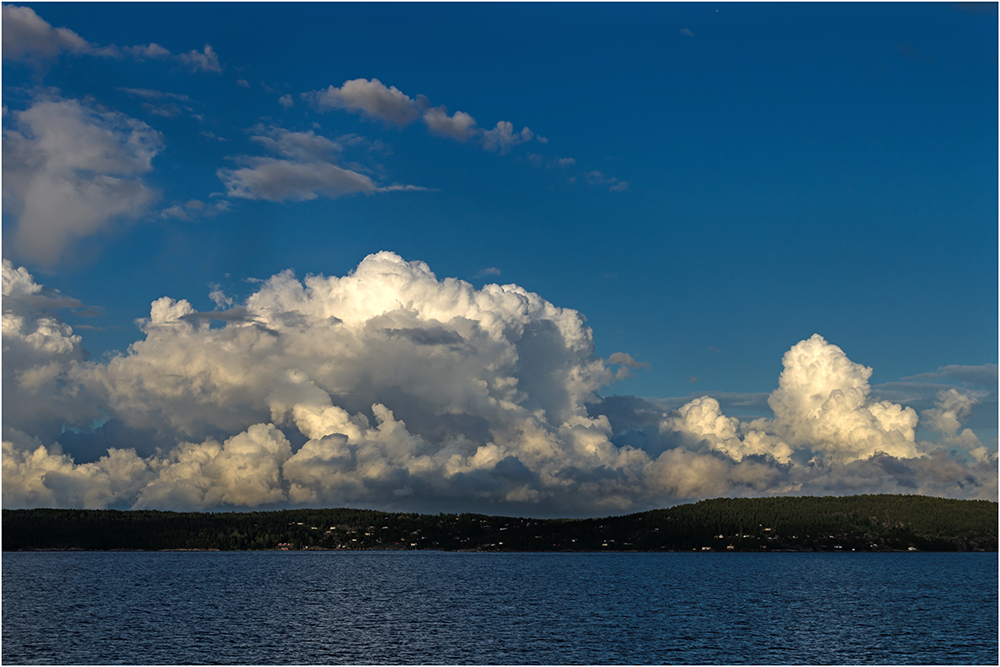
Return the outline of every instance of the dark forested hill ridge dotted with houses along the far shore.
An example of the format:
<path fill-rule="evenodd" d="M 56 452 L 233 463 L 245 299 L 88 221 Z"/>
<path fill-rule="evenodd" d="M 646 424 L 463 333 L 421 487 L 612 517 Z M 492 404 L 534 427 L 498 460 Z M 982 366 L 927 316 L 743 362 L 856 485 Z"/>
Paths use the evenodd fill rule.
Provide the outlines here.
<path fill-rule="evenodd" d="M 721 498 L 602 519 L 3 510 L 3 550 L 996 551 L 997 503 L 926 496 Z"/>

